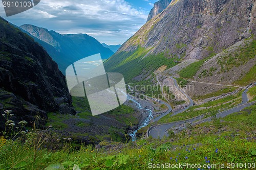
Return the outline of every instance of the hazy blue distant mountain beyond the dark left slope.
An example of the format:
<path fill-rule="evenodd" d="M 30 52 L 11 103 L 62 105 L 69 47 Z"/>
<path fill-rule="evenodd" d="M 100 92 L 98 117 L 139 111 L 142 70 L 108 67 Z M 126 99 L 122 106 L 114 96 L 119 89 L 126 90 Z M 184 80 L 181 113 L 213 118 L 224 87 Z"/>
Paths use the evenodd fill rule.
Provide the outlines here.
<path fill-rule="evenodd" d="M 114 54 L 109 48 L 103 47 L 99 41 L 87 34 L 61 35 L 33 25 L 23 25 L 20 28 L 27 31 L 47 50 L 63 74 L 70 64 L 84 57 L 100 53 L 102 59 L 108 59 Z"/>

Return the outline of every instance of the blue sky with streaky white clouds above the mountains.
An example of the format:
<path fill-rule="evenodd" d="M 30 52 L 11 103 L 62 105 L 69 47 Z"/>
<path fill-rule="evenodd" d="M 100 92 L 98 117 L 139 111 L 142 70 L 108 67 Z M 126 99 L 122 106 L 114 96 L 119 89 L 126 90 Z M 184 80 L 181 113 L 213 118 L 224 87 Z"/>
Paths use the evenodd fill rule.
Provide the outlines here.
<path fill-rule="evenodd" d="M 25 12 L 6 17 L 21 26 L 32 24 L 60 34 L 86 33 L 101 43 L 122 44 L 146 22 L 158 0 L 41 0 Z"/>

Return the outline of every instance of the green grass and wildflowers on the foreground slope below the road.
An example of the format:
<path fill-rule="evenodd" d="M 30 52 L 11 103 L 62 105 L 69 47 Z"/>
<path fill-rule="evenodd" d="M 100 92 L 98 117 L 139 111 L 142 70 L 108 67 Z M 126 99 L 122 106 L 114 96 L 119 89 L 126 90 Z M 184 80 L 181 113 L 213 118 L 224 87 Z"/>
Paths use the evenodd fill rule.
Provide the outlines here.
<path fill-rule="evenodd" d="M 217 119 L 190 127 L 175 134 L 172 139 L 148 138 L 127 144 L 113 143 L 115 146 L 121 145 L 121 149 L 95 149 L 92 145 L 81 145 L 77 149 L 72 144 L 65 143 L 60 150 L 53 151 L 42 145 L 36 150 L 34 157 L 33 145 L 29 139 L 21 142 L 2 137 L 0 169 L 44 169 L 49 165 L 59 167 L 56 169 L 72 169 L 74 164 L 76 168 L 79 166 L 77 169 L 147 169 L 150 163 L 165 162 L 218 166 L 224 163 L 225 167 L 228 162 L 253 165 L 256 158 L 256 143 L 253 138 L 255 127 L 256 105 L 253 105 L 223 118 L 222 121 Z M 103 145 L 107 148 L 107 143 Z"/>

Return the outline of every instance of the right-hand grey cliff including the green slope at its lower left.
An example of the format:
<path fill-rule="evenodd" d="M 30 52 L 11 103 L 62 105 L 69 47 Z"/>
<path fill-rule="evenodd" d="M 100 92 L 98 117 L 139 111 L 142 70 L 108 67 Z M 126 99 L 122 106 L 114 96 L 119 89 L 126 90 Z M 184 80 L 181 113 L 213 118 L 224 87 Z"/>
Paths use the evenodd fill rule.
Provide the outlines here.
<path fill-rule="evenodd" d="M 255 0 L 176 0 L 104 65 L 127 81 L 141 81 L 162 65 L 212 56 L 255 33 Z"/>

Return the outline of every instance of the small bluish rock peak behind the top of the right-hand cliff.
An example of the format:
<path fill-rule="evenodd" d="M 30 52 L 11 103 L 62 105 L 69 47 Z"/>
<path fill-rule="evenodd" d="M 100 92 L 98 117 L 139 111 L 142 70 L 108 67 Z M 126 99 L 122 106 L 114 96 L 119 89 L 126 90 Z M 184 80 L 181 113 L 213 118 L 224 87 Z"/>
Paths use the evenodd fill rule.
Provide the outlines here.
<path fill-rule="evenodd" d="M 160 0 L 156 2 L 154 4 L 154 7 L 150 11 L 150 14 L 148 14 L 147 21 L 151 20 L 152 18 L 163 12 L 163 10 L 168 7 L 170 2 L 172 2 L 172 0 Z"/>

